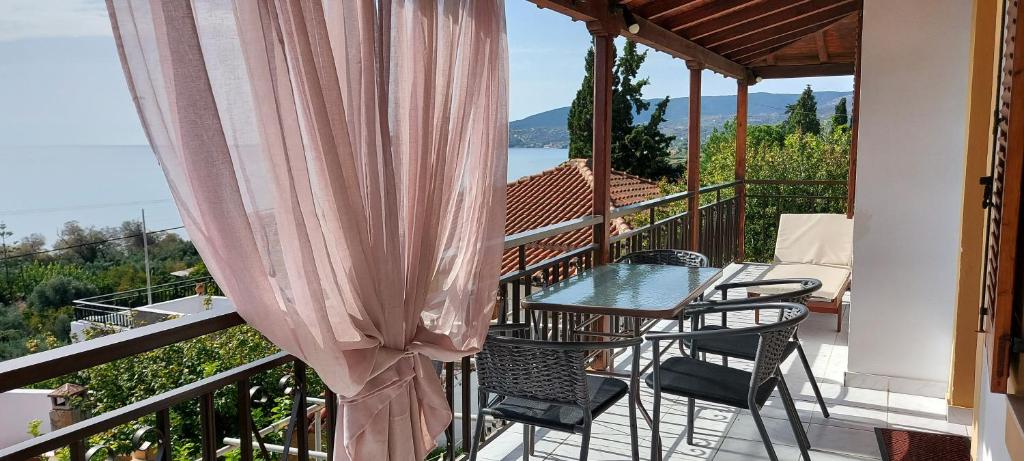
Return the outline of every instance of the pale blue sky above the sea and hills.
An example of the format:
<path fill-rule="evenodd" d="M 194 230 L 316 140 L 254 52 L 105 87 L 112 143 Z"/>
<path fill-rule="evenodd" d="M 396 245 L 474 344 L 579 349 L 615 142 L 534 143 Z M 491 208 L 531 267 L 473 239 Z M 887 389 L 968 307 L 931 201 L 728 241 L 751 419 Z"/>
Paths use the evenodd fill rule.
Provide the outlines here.
<path fill-rule="evenodd" d="M 506 2 L 509 118 L 568 106 L 584 75 L 590 37 L 583 23 Z M 684 62 L 651 51 L 641 68 L 645 97 L 685 96 Z M 102 0 L 0 1 L 0 145 L 144 144 Z M 770 80 L 761 92 L 850 90 L 849 77 Z M 702 94 L 735 94 L 731 79 L 706 71 Z"/>

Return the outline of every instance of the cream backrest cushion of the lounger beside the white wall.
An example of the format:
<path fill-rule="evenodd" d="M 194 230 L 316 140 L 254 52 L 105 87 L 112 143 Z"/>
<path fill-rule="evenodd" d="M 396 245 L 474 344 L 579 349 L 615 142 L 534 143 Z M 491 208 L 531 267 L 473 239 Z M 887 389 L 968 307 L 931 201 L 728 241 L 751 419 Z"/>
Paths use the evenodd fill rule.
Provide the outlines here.
<path fill-rule="evenodd" d="M 775 262 L 853 267 L 853 219 L 844 214 L 781 215 Z"/>

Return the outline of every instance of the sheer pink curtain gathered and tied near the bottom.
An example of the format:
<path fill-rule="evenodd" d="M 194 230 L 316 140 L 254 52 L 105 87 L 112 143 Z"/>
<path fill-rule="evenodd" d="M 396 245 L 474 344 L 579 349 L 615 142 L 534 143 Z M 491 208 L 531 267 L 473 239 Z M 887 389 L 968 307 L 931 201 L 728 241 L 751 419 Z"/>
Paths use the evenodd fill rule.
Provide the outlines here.
<path fill-rule="evenodd" d="M 422 459 L 505 220 L 502 0 L 108 0 L 150 142 L 242 317 L 340 395 L 337 460 Z"/>

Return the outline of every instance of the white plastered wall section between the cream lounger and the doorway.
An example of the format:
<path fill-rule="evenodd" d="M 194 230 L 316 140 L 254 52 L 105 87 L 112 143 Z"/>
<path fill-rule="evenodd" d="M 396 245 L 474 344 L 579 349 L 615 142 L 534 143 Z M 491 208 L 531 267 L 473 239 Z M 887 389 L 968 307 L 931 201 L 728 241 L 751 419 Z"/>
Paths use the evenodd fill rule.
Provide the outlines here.
<path fill-rule="evenodd" d="M 864 1 L 850 385 L 945 392 L 971 7 Z"/>

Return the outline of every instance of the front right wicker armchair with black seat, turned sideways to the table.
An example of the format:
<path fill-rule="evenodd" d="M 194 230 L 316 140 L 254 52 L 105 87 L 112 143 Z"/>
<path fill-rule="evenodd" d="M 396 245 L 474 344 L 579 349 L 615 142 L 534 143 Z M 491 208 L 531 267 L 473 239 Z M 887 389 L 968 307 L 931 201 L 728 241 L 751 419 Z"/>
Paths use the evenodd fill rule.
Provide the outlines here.
<path fill-rule="evenodd" d="M 810 442 L 804 432 L 804 426 L 800 422 L 797 408 L 793 403 L 793 396 L 785 385 L 782 374 L 779 373 L 778 366 L 785 357 L 785 350 L 790 347 L 793 333 L 797 326 L 807 319 L 807 306 L 797 303 L 772 302 L 772 303 L 748 303 L 736 305 L 715 305 L 695 304 L 691 312 L 695 317 L 713 313 L 735 312 L 741 310 L 778 310 L 779 321 L 770 325 L 759 325 L 746 328 L 691 331 L 682 333 L 655 333 L 646 336 L 651 341 L 651 350 L 654 352 L 654 371 L 647 375 L 647 385 L 654 389 L 653 423 L 654 433 L 653 444 L 651 444 L 651 459 L 662 459 L 662 442 L 658 432 L 659 413 L 662 408 L 662 394 L 670 393 L 688 397 L 714 402 L 743 410 L 750 410 L 754 416 L 761 439 L 768 452 L 768 457 L 772 461 L 777 461 L 778 456 L 768 437 L 764 421 L 761 418 L 760 409 L 776 388 L 782 397 L 790 425 L 800 446 L 801 455 L 805 460 L 810 460 L 808 450 Z M 744 335 L 755 335 L 758 337 L 757 352 L 755 354 L 754 369 L 751 372 L 729 368 L 724 365 L 713 364 L 697 360 L 695 357 L 673 357 L 662 361 L 662 341 L 706 341 L 713 338 L 734 339 Z M 693 444 L 693 423 L 694 409 L 691 406 L 687 414 L 686 443 Z"/>

